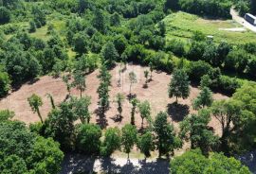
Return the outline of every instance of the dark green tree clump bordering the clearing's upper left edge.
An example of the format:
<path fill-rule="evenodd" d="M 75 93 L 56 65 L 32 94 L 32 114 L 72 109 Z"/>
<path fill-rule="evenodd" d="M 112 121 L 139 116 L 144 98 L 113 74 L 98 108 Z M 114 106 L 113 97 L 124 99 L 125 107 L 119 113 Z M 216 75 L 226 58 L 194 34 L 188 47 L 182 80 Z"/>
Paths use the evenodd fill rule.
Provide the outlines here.
<path fill-rule="evenodd" d="M 58 74 L 65 70 L 68 56 L 64 43 L 56 33 L 49 36 L 50 39 L 45 42 L 21 31 L 8 41 L 4 37 L 1 39 L 1 96 L 8 93 L 10 84 L 20 85 L 41 75 L 50 72 Z"/>

